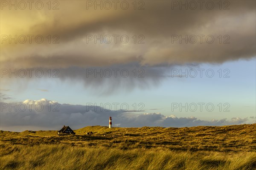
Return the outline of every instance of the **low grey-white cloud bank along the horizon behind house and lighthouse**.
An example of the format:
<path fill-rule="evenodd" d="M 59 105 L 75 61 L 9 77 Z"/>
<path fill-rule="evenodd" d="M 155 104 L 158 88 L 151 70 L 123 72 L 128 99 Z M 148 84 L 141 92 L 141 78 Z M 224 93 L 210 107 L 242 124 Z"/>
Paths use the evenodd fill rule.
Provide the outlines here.
<path fill-rule="evenodd" d="M 21 102 L 22 103 L 22 102 Z M 200 120 L 194 116 L 177 117 L 175 115 L 164 116 L 161 113 L 142 113 L 133 115 L 123 111 L 94 111 L 94 108 L 88 109 L 86 105 L 69 105 L 60 104 L 47 99 L 41 100 L 25 100 L 24 104 L 31 106 L 23 110 L 22 105 L 17 103 L 17 111 L 14 108 L 9 111 L 9 107 L 1 102 L 1 130 L 20 131 L 24 127 L 29 130 L 58 130 L 63 125 L 69 125 L 73 129 L 78 129 L 85 126 L 101 125 L 108 126 L 108 118 L 112 117 L 113 125 L 117 127 L 143 127 L 143 126 L 161 126 L 161 127 L 190 127 L 190 126 L 221 126 L 221 125 L 236 125 L 253 123 L 247 118 L 232 118 L 231 120 L 221 119 L 212 121 Z M 32 104 L 33 103 L 33 104 Z M 55 104 L 55 107 L 52 107 Z M 14 106 L 15 103 L 12 103 Z M 36 108 L 36 105 L 43 105 Z M 51 111 L 49 111 L 51 105 Z M 56 108 L 57 106 L 57 108 Z M 56 108 L 57 111 L 52 109 Z"/>

